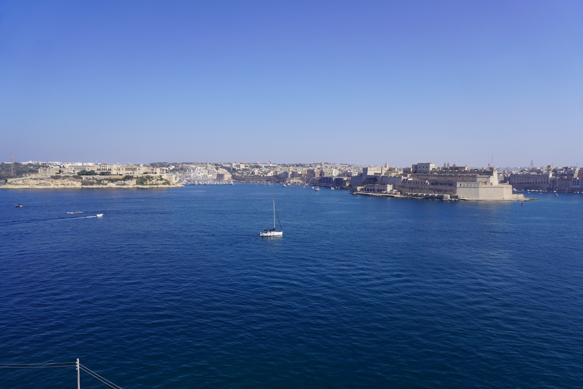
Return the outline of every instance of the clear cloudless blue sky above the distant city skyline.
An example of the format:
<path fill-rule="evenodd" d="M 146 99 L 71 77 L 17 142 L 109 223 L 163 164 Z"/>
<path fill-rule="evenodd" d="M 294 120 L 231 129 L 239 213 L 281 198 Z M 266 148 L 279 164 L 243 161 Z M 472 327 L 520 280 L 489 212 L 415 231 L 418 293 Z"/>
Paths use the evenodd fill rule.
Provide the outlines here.
<path fill-rule="evenodd" d="M 0 1 L 0 160 L 583 164 L 581 1 Z"/>

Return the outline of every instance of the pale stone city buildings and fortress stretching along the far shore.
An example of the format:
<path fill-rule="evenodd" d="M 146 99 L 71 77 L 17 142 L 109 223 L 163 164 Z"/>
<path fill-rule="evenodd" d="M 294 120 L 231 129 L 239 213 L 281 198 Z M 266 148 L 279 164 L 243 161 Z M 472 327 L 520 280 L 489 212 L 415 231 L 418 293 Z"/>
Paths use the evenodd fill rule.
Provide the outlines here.
<path fill-rule="evenodd" d="M 582 192 L 583 168 L 553 166 L 529 168 L 470 168 L 426 162 L 412 166 L 370 166 L 350 164 L 261 164 L 229 162 L 220 164 L 195 162 L 154 162 L 152 164 L 106 164 L 98 162 L 26 161 L 27 172 L 5 179 L 17 185 L 19 179 L 48 179 L 55 176 L 151 175 L 170 183 L 197 184 L 223 182 L 273 182 L 291 185 L 314 185 L 349 189 L 357 194 L 394 197 L 425 197 L 441 200 L 517 200 L 518 190 Z M 10 163 L 2 164 L 3 170 Z M 20 169 L 19 171 L 22 171 Z M 28 182 L 30 184 L 30 182 Z"/>

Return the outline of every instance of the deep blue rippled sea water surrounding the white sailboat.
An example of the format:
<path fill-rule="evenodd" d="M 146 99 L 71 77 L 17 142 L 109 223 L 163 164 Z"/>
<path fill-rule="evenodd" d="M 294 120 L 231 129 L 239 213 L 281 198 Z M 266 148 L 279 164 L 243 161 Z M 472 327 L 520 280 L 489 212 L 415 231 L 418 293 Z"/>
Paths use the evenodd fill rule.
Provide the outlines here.
<path fill-rule="evenodd" d="M 583 387 L 583 194 L 536 196 L 0 190 L 0 363 L 79 358 L 124 389 Z M 285 232 L 260 238 L 272 199 Z"/>

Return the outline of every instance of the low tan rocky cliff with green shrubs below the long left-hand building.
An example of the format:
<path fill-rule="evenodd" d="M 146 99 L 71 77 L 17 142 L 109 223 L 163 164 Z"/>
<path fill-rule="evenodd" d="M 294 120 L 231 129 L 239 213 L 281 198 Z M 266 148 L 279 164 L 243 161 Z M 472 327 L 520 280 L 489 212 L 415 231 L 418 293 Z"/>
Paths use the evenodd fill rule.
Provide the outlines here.
<path fill-rule="evenodd" d="M 85 187 L 180 187 L 156 176 L 108 178 L 103 176 L 56 175 L 10 179 L 0 189 L 82 189 Z"/>

